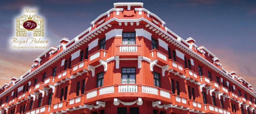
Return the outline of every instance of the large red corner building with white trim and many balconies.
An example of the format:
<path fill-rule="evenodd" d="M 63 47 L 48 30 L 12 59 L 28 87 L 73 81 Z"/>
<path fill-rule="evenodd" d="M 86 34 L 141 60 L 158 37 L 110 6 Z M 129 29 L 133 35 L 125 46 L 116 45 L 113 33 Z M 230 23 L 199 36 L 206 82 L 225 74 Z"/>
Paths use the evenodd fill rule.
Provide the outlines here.
<path fill-rule="evenodd" d="M 143 3 L 114 3 L 1 87 L 1 113 L 254 114 L 256 94 Z"/>

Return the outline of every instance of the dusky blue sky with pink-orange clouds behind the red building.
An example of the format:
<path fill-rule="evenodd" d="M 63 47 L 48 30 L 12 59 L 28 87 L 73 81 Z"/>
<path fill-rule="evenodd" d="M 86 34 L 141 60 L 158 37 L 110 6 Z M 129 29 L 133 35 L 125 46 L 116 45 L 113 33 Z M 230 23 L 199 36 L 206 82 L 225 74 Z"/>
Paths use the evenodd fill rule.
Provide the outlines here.
<path fill-rule="evenodd" d="M 192 37 L 205 46 L 228 71 L 245 78 L 256 88 L 256 1 L 1 1 L 0 85 L 20 77 L 45 50 L 13 51 L 9 43 L 14 19 L 24 7 L 36 7 L 45 19 L 49 44 L 58 46 L 88 29 L 95 18 L 116 2 L 142 2 L 143 7 L 166 22 L 181 38 Z"/>

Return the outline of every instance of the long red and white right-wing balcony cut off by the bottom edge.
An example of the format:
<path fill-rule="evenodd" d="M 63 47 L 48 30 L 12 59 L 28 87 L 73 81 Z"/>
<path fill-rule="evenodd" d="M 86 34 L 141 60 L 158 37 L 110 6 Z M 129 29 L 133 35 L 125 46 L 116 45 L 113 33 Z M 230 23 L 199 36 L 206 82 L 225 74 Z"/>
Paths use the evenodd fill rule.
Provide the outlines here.
<path fill-rule="evenodd" d="M 210 114 L 230 114 L 230 111 L 227 111 L 225 109 L 210 105 L 210 104 L 205 104 L 203 105 L 204 109 L 204 113 L 210 113 Z"/>

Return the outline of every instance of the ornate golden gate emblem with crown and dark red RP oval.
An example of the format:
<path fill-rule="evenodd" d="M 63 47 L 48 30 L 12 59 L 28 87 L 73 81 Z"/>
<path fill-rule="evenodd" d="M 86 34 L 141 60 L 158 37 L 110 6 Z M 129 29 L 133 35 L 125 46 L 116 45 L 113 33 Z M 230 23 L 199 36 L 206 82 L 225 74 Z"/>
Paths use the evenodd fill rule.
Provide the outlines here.
<path fill-rule="evenodd" d="M 23 15 L 16 19 L 16 36 L 27 36 L 33 31 L 34 36 L 44 36 L 44 19 L 37 15 Z"/>

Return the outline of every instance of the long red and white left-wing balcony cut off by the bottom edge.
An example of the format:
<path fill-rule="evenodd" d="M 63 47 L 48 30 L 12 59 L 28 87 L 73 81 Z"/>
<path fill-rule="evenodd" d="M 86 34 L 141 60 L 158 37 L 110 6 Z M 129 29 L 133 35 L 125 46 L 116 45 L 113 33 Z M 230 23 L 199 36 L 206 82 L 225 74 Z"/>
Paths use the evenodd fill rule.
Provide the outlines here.
<path fill-rule="evenodd" d="M 40 114 L 50 114 L 51 113 L 50 109 L 51 109 L 51 106 L 45 105 L 45 106 L 36 108 L 34 110 L 27 111 L 27 112 L 25 112 L 25 114 L 35 114 L 35 113 L 36 114 L 38 114 L 38 113 L 40 113 Z"/>

